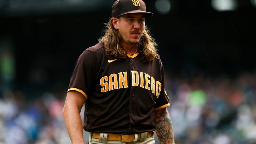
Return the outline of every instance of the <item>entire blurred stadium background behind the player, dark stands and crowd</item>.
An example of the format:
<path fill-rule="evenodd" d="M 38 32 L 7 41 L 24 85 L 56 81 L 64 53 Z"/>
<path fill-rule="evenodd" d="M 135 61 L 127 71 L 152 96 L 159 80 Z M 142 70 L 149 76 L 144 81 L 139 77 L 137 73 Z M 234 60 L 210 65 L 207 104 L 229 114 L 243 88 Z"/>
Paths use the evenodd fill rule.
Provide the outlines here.
<path fill-rule="evenodd" d="M 114 1 L 0 0 L 0 144 L 71 143 L 69 80 Z M 145 3 L 176 144 L 256 144 L 256 0 Z"/>

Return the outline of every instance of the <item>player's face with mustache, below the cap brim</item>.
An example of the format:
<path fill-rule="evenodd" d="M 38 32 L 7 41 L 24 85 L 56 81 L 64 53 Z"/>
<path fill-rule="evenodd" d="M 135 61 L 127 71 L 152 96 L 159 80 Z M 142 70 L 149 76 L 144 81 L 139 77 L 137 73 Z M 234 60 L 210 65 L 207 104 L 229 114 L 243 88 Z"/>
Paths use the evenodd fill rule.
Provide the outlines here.
<path fill-rule="evenodd" d="M 122 36 L 124 45 L 138 44 L 145 28 L 145 16 L 143 13 L 122 15 L 120 18 L 112 18 L 112 23 Z"/>

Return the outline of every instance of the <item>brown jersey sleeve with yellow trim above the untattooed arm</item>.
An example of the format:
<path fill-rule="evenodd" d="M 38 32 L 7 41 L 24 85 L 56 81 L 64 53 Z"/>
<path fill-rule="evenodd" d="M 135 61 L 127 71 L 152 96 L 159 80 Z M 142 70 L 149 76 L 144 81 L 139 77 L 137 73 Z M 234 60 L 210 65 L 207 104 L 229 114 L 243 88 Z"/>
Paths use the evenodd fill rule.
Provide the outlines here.
<path fill-rule="evenodd" d="M 74 72 L 70 78 L 68 91 L 74 90 L 82 93 L 85 98 L 92 88 L 96 57 L 89 51 L 85 50 L 78 58 Z M 68 92 L 67 91 L 67 92 Z"/>

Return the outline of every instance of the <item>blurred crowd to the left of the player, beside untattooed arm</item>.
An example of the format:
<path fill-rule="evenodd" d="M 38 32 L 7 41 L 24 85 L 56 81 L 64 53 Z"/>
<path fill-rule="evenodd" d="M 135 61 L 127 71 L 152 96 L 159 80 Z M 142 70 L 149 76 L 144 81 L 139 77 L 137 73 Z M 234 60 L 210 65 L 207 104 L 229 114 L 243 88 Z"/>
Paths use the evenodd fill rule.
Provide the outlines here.
<path fill-rule="evenodd" d="M 0 99 L 0 144 L 70 144 L 62 117 L 63 99 L 44 93 L 25 99 L 8 91 Z"/>

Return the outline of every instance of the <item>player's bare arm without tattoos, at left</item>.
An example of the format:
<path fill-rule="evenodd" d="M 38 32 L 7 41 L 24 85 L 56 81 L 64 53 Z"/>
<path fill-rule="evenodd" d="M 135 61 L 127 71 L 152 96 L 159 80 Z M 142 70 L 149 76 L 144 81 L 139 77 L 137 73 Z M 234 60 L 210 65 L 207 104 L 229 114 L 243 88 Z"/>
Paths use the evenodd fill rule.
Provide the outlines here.
<path fill-rule="evenodd" d="M 72 144 L 84 144 L 80 111 L 85 97 L 76 91 L 69 91 L 62 111 Z"/>

